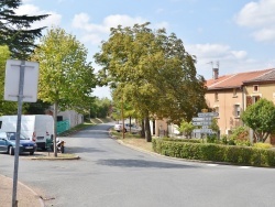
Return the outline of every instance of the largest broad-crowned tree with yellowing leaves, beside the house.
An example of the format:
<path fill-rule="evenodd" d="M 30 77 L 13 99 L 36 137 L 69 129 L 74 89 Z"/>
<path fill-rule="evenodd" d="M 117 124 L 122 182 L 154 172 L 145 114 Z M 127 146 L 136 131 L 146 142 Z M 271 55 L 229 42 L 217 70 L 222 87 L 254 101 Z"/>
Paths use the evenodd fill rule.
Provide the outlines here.
<path fill-rule="evenodd" d="M 102 66 L 101 83 L 122 94 L 123 101 L 144 118 L 145 138 L 151 141 L 152 116 L 176 123 L 190 120 L 205 107 L 206 88 L 182 40 L 148 24 L 112 28 L 95 58 Z"/>

